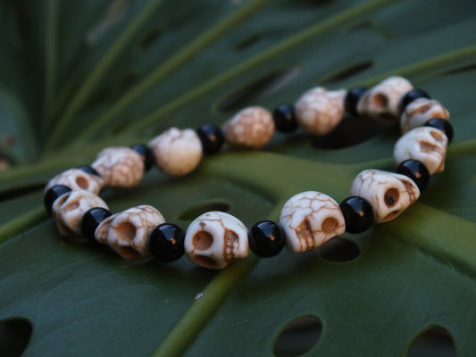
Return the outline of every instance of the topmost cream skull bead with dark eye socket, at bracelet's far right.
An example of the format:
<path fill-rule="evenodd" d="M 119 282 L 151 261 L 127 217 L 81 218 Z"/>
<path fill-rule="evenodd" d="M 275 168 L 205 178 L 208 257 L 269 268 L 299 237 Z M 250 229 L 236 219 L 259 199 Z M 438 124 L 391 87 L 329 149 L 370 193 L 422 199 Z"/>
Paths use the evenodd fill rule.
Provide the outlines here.
<path fill-rule="evenodd" d="M 407 79 L 389 77 L 365 92 L 357 103 L 357 112 L 383 121 L 395 121 L 400 115 L 400 100 L 412 89 L 412 83 Z"/>

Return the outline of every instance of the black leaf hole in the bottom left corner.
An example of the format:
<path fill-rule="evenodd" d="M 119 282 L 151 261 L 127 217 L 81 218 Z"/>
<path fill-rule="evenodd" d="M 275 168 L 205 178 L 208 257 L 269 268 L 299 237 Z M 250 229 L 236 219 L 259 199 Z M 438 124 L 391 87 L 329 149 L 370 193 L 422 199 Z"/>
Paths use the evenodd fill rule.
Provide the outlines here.
<path fill-rule="evenodd" d="M 18 357 L 25 351 L 33 332 L 31 322 L 24 318 L 0 321 L 0 351 L 3 357 Z"/>

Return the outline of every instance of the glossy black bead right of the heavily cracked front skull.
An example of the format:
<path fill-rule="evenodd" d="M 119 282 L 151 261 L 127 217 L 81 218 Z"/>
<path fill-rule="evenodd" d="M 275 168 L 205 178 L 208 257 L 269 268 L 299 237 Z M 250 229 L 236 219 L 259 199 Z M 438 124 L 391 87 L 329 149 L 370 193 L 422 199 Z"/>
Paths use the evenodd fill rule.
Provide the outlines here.
<path fill-rule="evenodd" d="M 362 233 L 372 227 L 374 220 L 371 203 L 362 197 L 353 195 L 340 203 L 340 211 L 346 220 L 346 231 L 349 233 Z"/>

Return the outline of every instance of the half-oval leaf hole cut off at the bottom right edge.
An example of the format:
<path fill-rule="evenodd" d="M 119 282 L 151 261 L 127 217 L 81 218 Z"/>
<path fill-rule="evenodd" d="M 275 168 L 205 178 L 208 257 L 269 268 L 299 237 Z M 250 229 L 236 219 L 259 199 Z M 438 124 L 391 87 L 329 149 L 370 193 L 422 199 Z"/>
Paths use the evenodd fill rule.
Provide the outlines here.
<path fill-rule="evenodd" d="M 455 357 L 455 342 L 446 328 L 435 326 L 416 336 L 407 357 Z"/>

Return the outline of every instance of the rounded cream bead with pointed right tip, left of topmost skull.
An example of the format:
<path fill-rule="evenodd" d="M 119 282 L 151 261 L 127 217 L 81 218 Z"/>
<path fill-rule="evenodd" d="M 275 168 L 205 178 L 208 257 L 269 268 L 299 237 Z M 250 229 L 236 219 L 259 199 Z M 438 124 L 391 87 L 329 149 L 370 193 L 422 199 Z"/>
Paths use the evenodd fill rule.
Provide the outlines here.
<path fill-rule="evenodd" d="M 330 91 L 324 87 L 314 87 L 308 90 L 297 99 L 297 122 L 313 135 L 329 134 L 346 114 L 346 95 L 345 89 Z"/>

